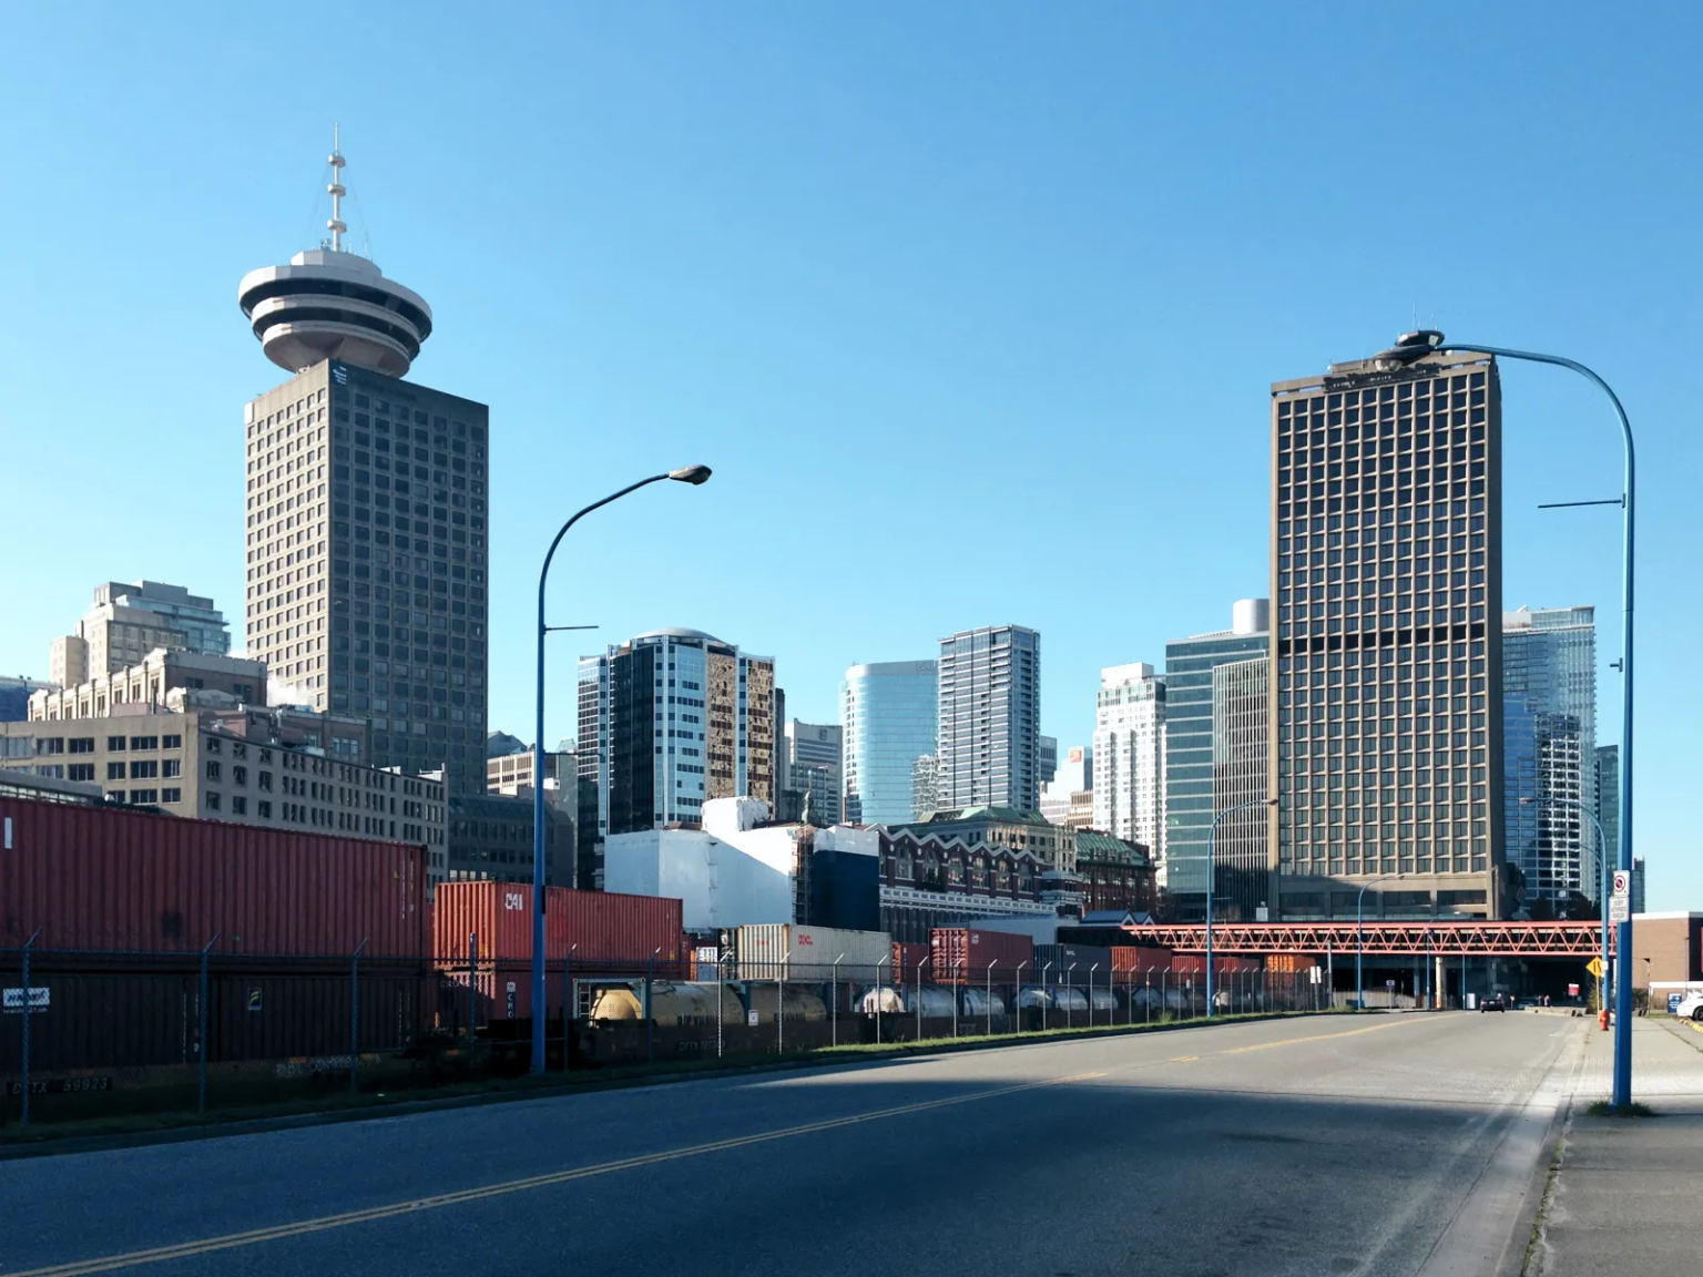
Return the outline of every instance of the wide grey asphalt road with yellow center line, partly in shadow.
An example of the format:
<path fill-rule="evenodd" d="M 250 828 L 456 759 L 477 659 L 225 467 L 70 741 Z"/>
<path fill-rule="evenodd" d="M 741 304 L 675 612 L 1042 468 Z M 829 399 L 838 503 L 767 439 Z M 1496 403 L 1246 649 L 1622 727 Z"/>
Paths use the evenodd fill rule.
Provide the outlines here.
<path fill-rule="evenodd" d="M 0 1274 L 1490 1274 L 1580 1023 L 1221 1025 L 7 1161 Z"/>

